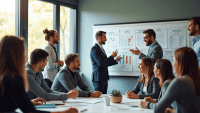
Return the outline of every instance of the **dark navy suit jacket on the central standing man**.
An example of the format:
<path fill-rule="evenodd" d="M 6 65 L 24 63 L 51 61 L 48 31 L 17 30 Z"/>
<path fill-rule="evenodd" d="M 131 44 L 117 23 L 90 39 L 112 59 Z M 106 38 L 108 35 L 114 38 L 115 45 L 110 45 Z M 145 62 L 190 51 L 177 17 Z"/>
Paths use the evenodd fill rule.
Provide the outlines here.
<path fill-rule="evenodd" d="M 117 64 L 113 56 L 107 57 L 96 43 L 91 49 L 90 58 L 92 61 L 92 81 L 109 80 L 108 66 Z"/>

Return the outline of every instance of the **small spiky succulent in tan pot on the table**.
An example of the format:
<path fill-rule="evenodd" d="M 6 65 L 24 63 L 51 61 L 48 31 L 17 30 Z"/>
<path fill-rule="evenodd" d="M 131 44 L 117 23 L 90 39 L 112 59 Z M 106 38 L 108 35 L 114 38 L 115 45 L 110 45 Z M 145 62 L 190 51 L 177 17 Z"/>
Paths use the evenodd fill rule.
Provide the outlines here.
<path fill-rule="evenodd" d="M 121 103 L 122 102 L 122 92 L 119 90 L 112 90 L 111 92 L 111 102 L 113 103 Z"/>

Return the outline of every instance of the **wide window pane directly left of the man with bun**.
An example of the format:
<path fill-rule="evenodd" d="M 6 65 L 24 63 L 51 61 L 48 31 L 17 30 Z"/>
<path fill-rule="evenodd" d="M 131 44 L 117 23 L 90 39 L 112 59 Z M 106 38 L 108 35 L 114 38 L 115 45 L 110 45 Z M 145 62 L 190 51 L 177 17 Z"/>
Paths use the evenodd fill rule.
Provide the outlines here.
<path fill-rule="evenodd" d="M 47 44 L 43 30 L 53 30 L 53 4 L 29 0 L 28 12 L 28 62 L 31 52 Z"/>

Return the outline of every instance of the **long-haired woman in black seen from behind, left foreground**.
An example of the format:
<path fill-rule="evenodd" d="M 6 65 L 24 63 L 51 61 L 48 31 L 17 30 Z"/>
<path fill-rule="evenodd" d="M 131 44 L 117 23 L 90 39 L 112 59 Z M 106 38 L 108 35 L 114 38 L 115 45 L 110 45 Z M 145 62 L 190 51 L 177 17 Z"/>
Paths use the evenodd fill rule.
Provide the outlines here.
<path fill-rule="evenodd" d="M 5 36 L 0 42 L 0 112 L 14 112 L 20 108 L 22 112 L 37 111 L 34 104 L 43 99 L 29 100 L 28 81 L 25 73 L 25 47 L 23 38 Z M 76 108 L 63 112 L 77 113 Z"/>

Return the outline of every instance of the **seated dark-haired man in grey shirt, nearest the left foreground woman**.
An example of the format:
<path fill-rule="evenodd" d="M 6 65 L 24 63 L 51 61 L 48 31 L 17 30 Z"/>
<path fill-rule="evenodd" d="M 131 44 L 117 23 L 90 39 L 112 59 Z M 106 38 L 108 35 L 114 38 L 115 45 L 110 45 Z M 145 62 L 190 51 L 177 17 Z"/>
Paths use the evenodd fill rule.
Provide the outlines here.
<path fill-rule="evenodd" d="M 29 91 L 28 97 L 34 99 L 37 97 L 45 100 L 66 100 L 67 98 L 77 98 L 78 90 L 74 89 L 68 93 L 61 93 L 51 90 L 43 79 L 41 71 L 47 64 L 48 53 L 42 49 L 35 49 L 30 55 L 30 64 L 26 63 L 28 74 Z"/>

